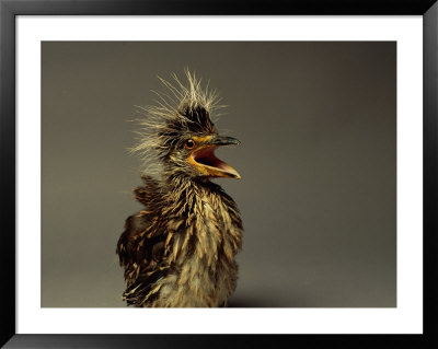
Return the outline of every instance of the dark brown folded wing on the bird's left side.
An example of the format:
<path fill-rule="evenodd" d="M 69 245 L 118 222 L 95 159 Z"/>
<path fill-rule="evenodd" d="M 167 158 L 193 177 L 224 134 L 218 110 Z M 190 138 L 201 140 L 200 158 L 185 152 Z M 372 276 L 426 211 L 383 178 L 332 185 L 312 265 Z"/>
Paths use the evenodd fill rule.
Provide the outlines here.
<path fill-rule="evenodd" d="M 143 181 L 145 186 L 134 191 L 146 208 L 127 218 L 116 251 L 128 284 L 124 299 L 135 305 L 148 296 L 152 286 L 169 268 L 164 256 L 165 230 L 162 217 L 158 213 L 160 188 L 150 177 L 145 176 Z"/>

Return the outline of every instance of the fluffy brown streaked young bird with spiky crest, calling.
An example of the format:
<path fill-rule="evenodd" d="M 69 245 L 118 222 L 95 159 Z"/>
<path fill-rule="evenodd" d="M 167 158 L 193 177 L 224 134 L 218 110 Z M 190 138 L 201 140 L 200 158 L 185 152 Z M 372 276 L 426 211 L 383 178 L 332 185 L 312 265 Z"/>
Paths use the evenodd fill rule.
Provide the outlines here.
<path fill-rule="evenodd" d="M 165 92 L 140 107 L 138 143 L 148 163 L 134 189 L 142 209 L 128 217 L 116 247 L 123 301 L 137 307 L 222 307 L 233 294 L 243 225 L 235 201 L 214 178 L 237 178 L 215 150 L 240 141 L 218 132 L 220 98 L 194 72 L 159 77 Z"/>

